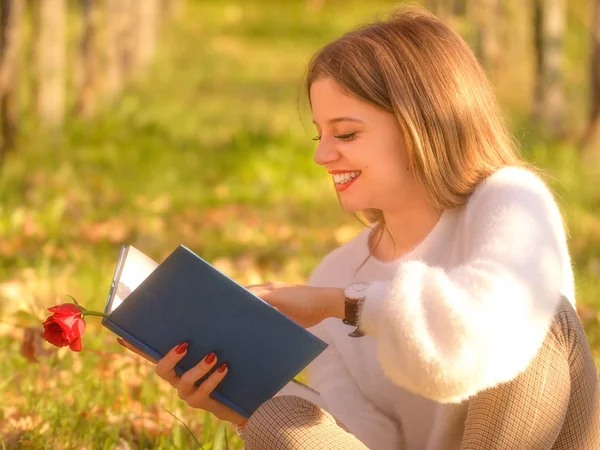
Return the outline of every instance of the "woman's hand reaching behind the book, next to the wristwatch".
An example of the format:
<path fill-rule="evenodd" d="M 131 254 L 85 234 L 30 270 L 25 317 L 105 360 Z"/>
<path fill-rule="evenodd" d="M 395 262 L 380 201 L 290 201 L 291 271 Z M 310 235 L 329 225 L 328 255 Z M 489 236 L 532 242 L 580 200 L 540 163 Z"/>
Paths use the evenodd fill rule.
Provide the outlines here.
<path fill-rule="evenodd" d="M 344 318 L 343 289 L 273 281 L 246 286 L 246 289 L 304 328 L 312 327 L 328 317 Z"/>

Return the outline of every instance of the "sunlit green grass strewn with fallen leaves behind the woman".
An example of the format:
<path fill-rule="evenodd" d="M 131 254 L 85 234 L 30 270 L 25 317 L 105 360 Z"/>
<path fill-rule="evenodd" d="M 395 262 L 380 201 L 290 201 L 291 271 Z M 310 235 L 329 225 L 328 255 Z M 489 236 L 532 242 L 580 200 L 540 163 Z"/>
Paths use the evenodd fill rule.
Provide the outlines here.
<path fill-rule="evenodd" d="M 101 309 L 122 242 L 157 260 L 185 243 L 242 283 L 305 280 L 360 225 L 312 162 L 304 66 L 320 45 L 393 4 L 330 1 L 317 11 L 304 1 L 190 2 L 146 76 L 94 119 L 70 119 L 56 135 L 27 113 L 0 175 L 0 445 L 196 448 L 166 409 L 204 448 L 241 447 L 230 426 L 187 408 L 93 319 L 80 354 L 46 347 L 50 355 L 28 362 L 21 327 L 39 321 L 15 312 L 42 318 L 66 294 Z M 578 33 L 572 42 L 582 41 Z M 569 70 L 569 80 L 584 77 L 583 67 Z M 520 119 L 525 96 L 498 90 L 563 208 L 598 356 L 597 166 L 569 144 L 545 142 Z"/>

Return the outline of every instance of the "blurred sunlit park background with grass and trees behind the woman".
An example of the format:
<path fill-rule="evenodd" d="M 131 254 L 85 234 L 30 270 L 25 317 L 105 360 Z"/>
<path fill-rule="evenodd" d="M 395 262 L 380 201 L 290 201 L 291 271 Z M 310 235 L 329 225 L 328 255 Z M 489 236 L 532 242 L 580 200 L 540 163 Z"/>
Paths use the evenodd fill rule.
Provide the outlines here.
<path fill-rule="evenodd" d="M 99 320 L 79 354 L 40 322 L 67 295 L 103 309 L 122 243 L 156 260 L 184 243 L 241 283 L 305 281 L 361 225 L 312 162 L 304 67 L 397 4 L 0 1 L 2 448 L 241 448 Z M 600 0 L 425 6 L 472 46 L 547 174 L 598 358 Z"/>

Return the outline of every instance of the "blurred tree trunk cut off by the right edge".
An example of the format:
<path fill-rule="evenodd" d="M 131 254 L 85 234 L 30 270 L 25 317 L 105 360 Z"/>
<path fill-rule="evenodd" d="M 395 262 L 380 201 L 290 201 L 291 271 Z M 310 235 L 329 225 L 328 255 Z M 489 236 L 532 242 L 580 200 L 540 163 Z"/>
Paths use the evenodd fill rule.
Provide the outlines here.
<path fill-rule="evenodd" d="M 600 0 L 592 1 L 590 24 L 590 113 L 582 146 L 588 147 L 600 128 Z M 596 146 L 600 152 L 600 142 Z"/>

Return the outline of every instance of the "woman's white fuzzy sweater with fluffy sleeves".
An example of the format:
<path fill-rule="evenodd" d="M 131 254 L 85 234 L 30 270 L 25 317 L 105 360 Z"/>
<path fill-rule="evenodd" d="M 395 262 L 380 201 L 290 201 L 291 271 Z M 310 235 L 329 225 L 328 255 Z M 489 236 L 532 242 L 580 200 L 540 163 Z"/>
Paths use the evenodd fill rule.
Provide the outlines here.
<path fill-rule="evenodd" d="M 561 294 L 574 304 L 561 214 L 531 172 L 504 168 L 394 262 L 367 257 L 369 230 L 330 253 L 310 284 L 372 282 L 366 336 L 326 319 L 309 366 L 316 401 L 371 449 L 460 448 L 468 399 L 514 378 L 540 347 Z"/>

